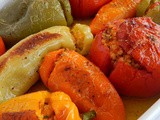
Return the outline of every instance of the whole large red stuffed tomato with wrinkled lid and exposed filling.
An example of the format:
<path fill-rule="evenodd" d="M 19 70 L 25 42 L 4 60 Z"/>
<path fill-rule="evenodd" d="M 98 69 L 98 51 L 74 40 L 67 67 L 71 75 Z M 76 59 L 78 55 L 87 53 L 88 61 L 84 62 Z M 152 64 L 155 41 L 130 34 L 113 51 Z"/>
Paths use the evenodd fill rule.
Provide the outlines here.
<path fill-rule="evenodd" d="M 154 96 L 160 93 L 160 26 L 148 17 L 108 23 L 95 37 L 90 60 L 120 94 Z"/>

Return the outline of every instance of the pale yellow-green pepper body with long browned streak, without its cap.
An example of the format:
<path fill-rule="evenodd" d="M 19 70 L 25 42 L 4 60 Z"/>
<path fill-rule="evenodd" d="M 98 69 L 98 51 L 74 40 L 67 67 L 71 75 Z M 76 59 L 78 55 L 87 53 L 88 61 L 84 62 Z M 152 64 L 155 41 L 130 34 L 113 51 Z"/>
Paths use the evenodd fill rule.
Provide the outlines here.
<path fill-rule="evenodd" d="M 46 53 L 59 48 L 75 50 L 70 29 L 55 26 L 31 35 L 0 57 L 0 102 L 24 94 L 38 79 Z"/>

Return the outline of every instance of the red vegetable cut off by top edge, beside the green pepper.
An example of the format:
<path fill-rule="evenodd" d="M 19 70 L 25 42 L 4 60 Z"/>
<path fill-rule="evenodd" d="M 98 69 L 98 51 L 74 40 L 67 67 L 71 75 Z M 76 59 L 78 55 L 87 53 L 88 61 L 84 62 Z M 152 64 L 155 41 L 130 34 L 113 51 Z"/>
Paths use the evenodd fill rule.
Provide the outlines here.
<path fill-rule="evenodd" d="M 75 18 L 89 18 L 96 14 L 100 7 L 111 0 L 70 0 L 72 15 Z"/>

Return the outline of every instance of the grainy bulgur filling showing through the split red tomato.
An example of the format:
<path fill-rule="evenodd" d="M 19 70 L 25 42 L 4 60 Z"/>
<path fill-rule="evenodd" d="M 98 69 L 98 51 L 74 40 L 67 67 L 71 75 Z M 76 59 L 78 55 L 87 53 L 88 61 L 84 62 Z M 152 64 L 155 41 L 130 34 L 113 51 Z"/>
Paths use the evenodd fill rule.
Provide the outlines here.
<path fill-rule="evenodd" d="M 142 66 L 136 62 L 132 56 L 127 54 L 123 48 L 119 45 L 116 39 L 116 28 L 112 27 L 106 29 L 102 35 L 102 43 L 109 48 L 111 62 L 114 65 L 118 60 L 124 61 L 126 64 L 131 65 L 134 68 L 142 69 Z"/>

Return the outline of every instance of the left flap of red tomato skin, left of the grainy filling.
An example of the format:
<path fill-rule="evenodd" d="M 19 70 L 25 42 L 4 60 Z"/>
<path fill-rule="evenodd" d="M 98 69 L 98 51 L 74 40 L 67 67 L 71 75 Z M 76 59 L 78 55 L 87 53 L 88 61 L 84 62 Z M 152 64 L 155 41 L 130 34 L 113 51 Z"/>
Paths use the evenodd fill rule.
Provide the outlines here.
<path fill-rule="evenodd" d="M 108 75 L 112 67 L 110 64 L 111 59 L 109 48 L 102 43 L 102 34 L 103 31 L 95 36 L 90 49 L 89 59 L 98 66 L 103 73 Z"/>

